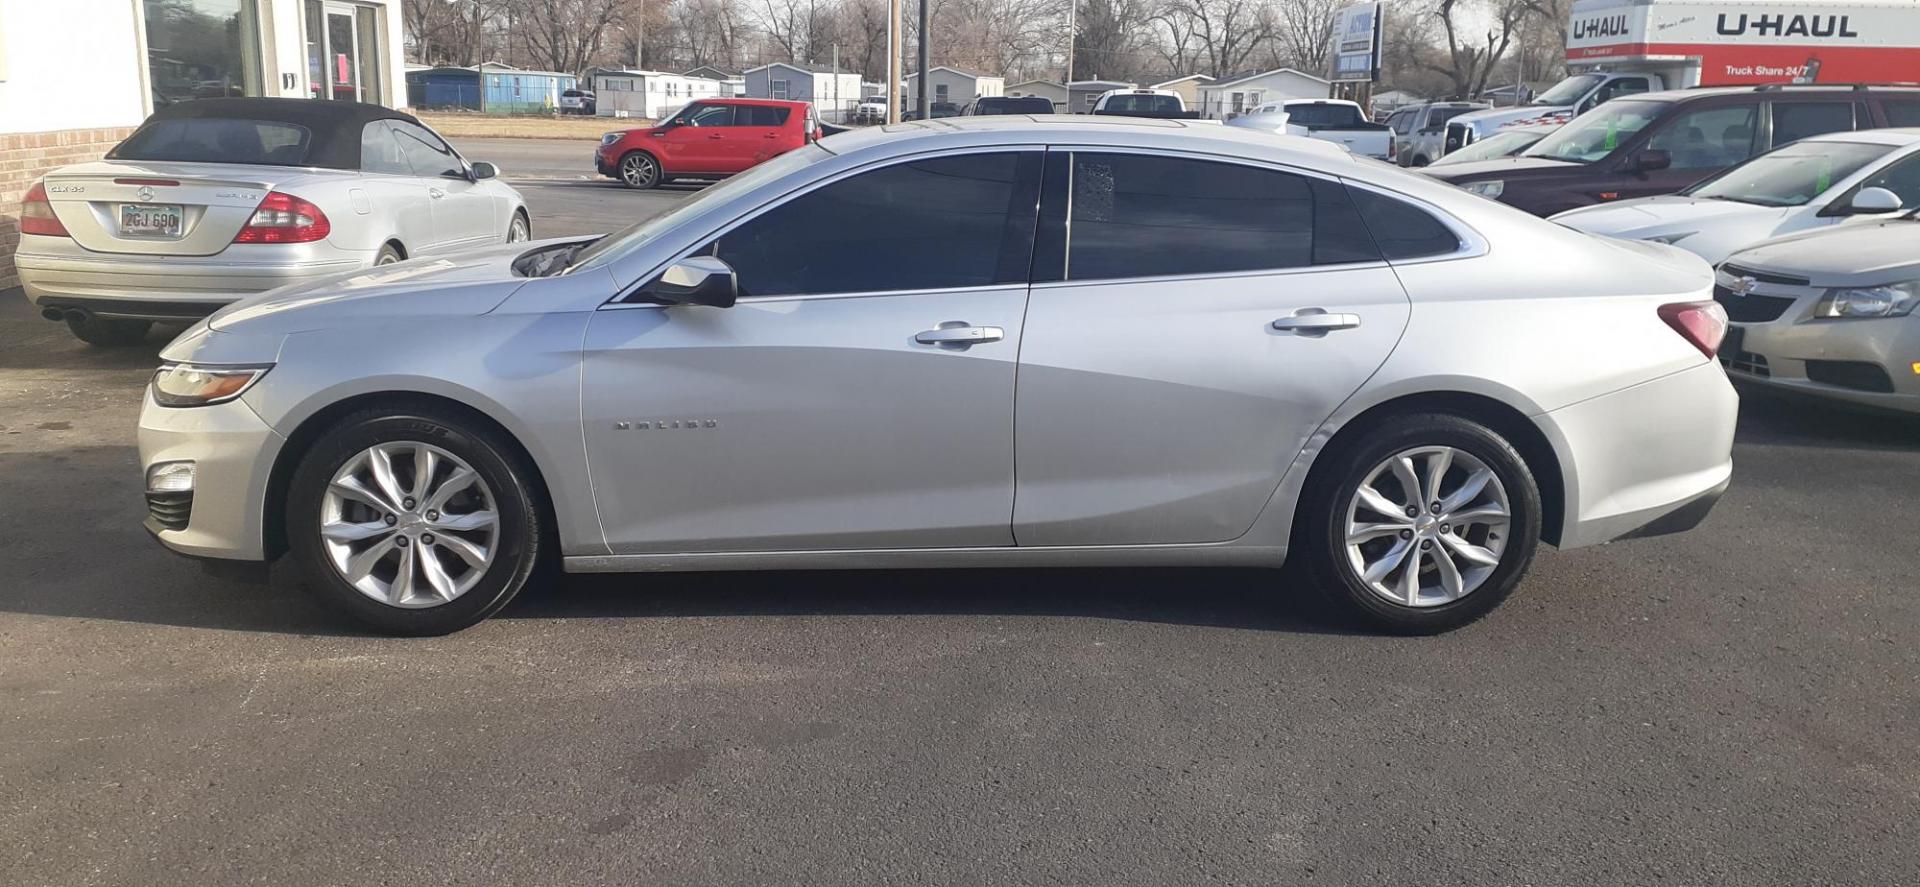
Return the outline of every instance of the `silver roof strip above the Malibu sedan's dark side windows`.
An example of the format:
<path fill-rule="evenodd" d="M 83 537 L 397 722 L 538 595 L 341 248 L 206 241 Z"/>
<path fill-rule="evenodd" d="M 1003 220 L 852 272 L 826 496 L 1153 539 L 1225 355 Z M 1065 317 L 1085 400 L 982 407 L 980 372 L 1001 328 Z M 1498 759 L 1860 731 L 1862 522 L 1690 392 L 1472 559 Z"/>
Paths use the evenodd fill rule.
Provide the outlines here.
<path fill-rule="evenodd" d="M 1269 159 L 1294 161 L 1306 167 L 1352 163 L 1346 148 L 1317 138 L 1279 136 L 1242 127 L 1215 123 L 1165 121 L 1150 117 L 1104 117 L 1085 113 L 1000 113 L 983 117 L 947 117 L 937 121 L 891 123 L 858 132 L 841 132 L 831 142 L 816 142 L 833 154 L 891 144 L 899 154 L 924 142 L 964 144 L 1116 144 L 1212 150 L 1217 154 L 1265 154 Z"/>

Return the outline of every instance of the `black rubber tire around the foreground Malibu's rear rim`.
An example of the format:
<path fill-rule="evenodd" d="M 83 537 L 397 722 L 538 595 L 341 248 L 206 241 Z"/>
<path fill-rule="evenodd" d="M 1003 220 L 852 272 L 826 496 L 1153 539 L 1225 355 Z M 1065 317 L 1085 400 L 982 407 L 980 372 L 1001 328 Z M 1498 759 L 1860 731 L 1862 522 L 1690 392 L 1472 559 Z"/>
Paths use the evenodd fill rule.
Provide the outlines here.
<path fill-rule="evenodd" d="M 1392 455 L 1415 447 L 1463 451 L 1486 465 L 1507 493 L 1509 522 L 1498 566 L 1465 595 L 1434 607 L 1388 601 L 1363 582 L 1346 551 L 1348 503 L 1359 484 Z M 1415 413 L 1386 419 L 1359 432 L 1342 449 L 1327 453 L 1327 463 L 1308 480 L 1302 511 L 1294 520 L 1294 551 L 1288 555 L 1342 611 L 1379 632 L 1440 634 L 1486 616 L 1521 584 L 1540 545 L 1540 488 L 1526 461 L 1505 438 L 1455 415 Z"/>

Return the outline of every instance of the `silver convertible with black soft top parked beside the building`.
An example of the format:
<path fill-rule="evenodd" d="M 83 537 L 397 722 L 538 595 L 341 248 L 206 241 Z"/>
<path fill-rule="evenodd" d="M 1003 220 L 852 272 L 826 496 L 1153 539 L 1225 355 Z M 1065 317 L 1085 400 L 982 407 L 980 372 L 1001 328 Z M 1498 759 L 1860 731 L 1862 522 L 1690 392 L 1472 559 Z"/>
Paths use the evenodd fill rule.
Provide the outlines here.
<path fill-rule="evenodd" d="M 154 113 L 21 205 L 27 298 L 96 346 L 328 275 L 532 238 L 520 194 L 411 115 L 213 98 Z"/>

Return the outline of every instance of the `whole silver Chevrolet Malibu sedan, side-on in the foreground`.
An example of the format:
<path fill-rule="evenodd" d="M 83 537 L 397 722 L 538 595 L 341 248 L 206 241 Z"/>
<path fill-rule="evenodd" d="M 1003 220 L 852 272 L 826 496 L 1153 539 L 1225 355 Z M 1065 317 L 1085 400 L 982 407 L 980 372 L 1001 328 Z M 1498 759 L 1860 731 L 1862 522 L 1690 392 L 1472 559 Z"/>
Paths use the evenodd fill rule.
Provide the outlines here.
<path fill-rule="evenodd" d="M 1709 267 L 1304 138 L 970 117 L 165 351 L 148 528 L 444 634 L 541 574 L 1281 566 L 1384 632 L 1728 484 Z M 257 570 L 246 570 L 257 572 Z M 1275 589 L 1290 586 L 1275 582 Z"/>

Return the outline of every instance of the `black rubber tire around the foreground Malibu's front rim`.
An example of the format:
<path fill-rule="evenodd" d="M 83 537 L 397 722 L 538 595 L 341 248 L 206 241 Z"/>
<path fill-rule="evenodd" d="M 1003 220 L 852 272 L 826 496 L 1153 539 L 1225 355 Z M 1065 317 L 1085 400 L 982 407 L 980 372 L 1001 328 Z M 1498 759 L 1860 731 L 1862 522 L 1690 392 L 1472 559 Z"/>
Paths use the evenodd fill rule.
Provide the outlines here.
<path fill-rule="evenodd" d="M 478 582 L 447 603 L 403 609 L 374 601 L 353 587 L 321 541 L 321 509 L 328 484 L 348 459 L 376 444 L 422 442 L 468 467 L 486 484 L 499 526 L 493 561 Z M 394 635 L 442 635 L 499 612 L 536 574 L 545 543 L 545 520 L 534 470 L 499 432 L 445 407 L 376 407 L 351 413 L 309 447 L 288 486 L 288 549 L 301 586 L 324 605 L 369 628 Z"/>

